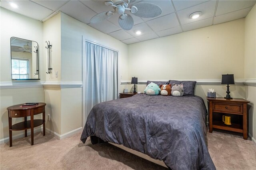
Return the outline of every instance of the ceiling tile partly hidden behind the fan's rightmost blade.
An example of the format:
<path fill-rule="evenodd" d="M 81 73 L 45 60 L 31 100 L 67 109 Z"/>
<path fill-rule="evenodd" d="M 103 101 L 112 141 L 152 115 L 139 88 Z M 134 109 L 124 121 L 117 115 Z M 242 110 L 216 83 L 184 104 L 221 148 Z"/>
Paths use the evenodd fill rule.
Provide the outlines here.
<path fill-rule="evenodd" d="M 158 18 L 160 16 L 164 16 L 167 14 L 171 14 L 174 12 L 174 9 L 172 8 L 172 4 L 170 0 L 144 0 L 142 2 L 148 2 L 152 4 L 158 5 L 162 9 L 162 14 L 159 16 L 155 17 Z M 154 18 L 142 18 L 144 21 L 152 20 Z"/>

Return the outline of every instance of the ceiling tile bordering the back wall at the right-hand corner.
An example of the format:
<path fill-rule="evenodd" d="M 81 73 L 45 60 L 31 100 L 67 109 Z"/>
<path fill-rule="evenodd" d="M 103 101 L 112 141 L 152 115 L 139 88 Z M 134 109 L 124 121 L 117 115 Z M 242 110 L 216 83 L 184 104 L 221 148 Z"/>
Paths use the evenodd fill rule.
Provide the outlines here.
<path fill-rule="evenodd" d="M 251 9 L 252 9 L 252 7 L 249 7 L 249 8 L 245 8 L 245 9 L 238 10 L 235 12 L 230 12 L 228 14 L 222 14 L 222 15 L 216 16 L 214 18 L 214 24 L 220 24 L 223 22 L 237 20 L 239 18 L 244 18 L 250 12 Z"/>

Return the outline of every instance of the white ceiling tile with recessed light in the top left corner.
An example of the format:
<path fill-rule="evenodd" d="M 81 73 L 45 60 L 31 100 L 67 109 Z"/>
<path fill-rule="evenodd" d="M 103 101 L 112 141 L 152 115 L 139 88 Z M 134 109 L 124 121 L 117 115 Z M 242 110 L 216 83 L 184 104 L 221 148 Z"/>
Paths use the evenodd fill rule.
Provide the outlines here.
<path fill-rule="evenodd" d="M 53 12 L 52 10 L 36 4 L 32 1 L 13 1 L 15 4 L 18 5 L 18 8 L 15 9 L 10 6 L 9 2 L 10 1 L 1 0 L 1 6 L 18 14 L 22 14 L 36 20 L 42 20 L 44 17 L 50 15 Z"/>

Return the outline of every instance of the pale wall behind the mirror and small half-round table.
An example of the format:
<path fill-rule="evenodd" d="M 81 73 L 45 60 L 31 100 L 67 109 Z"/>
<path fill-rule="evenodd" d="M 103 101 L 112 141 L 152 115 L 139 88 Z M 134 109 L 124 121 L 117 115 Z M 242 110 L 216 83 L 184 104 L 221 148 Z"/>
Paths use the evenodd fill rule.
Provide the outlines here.
<path fill-rule="evenodd" d="M 11 76 L 11 52 L 10 52 L 10 38 L 18 37 L 26 40 L 38 42 L 39 56 L 42 56 L 42 28 L 43 24 L 36 20 L 21 16 L 10 12 L 0 7 L 0 34 L 1 34 L 1 47 L 0 47 L 0 85 L 5 83 L 12 84 Z M 42 61 L 40 57 L 40 78 L 42 76 Z M 20 82 L 14 82 L 19 85 Z M 24 82 L 23 82 L 24 83 Z M 18 105 L 26 102 L 44 102 L 44 89 L 43 87 L 34 88 L 8 88 L 2 89 L 0 86 L 0 139 L 8 138 L 8 111 L 7 107 Z M 41 115 L 37 115 L 40 117 Z M 13 124 L 20 122 L 22 119 L 13 119 Z M 23 134 L 24 131 L 13 132 L 13 136 Z"/>

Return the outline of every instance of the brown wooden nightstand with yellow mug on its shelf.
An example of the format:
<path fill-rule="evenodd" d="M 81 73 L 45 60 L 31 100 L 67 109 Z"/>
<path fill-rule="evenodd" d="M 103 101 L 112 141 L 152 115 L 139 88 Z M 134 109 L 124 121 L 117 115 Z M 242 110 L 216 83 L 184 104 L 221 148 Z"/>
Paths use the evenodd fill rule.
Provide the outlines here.
<path fill-rule="evenodd" d="M 209 132 L 212 128 L 230 130 L 243 133 L 244 139 L 247 139 L 247 103 L 244 99 L 225 99 L 224 97 L 210 98 L 209 102 Z M 231 117 L 231 125 L 225 125 L 222 122 L 222 115 Z"/>

